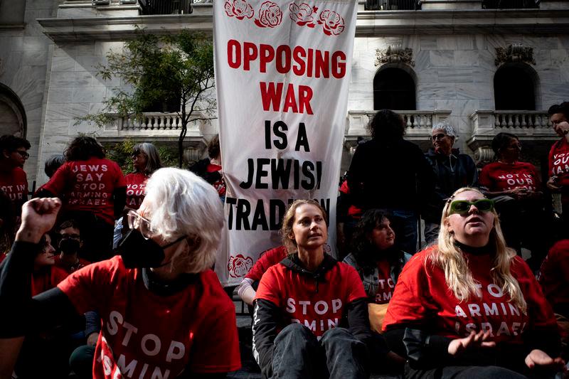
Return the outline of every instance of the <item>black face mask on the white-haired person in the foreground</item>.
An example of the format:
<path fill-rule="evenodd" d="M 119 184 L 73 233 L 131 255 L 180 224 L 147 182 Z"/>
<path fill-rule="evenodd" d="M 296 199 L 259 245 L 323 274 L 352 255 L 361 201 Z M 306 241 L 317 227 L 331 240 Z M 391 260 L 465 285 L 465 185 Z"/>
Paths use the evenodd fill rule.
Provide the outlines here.
<path fill-rule="evenodd" d="M 170 242 L 167 245 L 160 246 L 152 239 L 146 239 L 142 236 L 136 229 L 129 230 L 127 235 L 124 236 L 119 246 L 117 247 L 117 252 L 119 252 L 122 257 L 122 262 L 124 267 L 127 268 L 151 268 L 151 267 L 161 267 L 162 261 L 164 260 L 164 249 L 170 247 L 181 240 L 186 238 L 185 235 L 179 237 L 174 242 Z M 167 264 L 167 262 L 166 262 Z"/>

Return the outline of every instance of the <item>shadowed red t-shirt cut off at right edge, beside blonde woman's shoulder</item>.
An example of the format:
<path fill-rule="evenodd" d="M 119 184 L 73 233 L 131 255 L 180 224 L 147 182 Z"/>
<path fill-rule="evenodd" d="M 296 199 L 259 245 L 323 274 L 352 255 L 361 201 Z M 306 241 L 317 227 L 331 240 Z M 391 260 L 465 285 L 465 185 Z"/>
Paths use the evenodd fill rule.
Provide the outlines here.
<path fill-rule="evenodd" d="M 560 240 L 551 247 L 541 264 L 538 281 L 553 309 L 569 307 L 569 240 Z"/>

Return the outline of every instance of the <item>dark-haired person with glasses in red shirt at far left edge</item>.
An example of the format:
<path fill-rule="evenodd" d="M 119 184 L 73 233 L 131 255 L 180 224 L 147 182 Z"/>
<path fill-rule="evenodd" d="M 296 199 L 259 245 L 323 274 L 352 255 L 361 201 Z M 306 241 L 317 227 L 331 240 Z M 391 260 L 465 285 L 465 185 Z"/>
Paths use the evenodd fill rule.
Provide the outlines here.
<path fill-rule="evenodd" d="M 0 190 L 14 204 L 16 216 L 28 200 L 28 177 L 22 167 L 30 156 L 30 147 L 27 139 L 7 134 L 0 137 Z"/>

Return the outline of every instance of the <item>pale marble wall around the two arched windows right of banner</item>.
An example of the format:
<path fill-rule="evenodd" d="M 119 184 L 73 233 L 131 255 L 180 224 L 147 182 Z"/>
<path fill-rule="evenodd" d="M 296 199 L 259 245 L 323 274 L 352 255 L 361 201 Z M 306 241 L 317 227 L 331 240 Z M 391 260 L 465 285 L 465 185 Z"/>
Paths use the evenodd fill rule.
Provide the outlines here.
<path fill-rule="evenodd" d="M 494 110 L 496 48 L 511 43 L 533 48 L 537 110 L 569 100 L 569 36 L 410 35 L 356 38 L 348 109 L 373 109 L 373 78 L 381 68 L 375 65 L 376 49 L 394 44 L 412 48 L 414 66 L 408 67 L 416 76 L 417 110 L 451 110 L 458 146 L 472 154 L 466 145 L 472 134 L 469 115 Z"/>

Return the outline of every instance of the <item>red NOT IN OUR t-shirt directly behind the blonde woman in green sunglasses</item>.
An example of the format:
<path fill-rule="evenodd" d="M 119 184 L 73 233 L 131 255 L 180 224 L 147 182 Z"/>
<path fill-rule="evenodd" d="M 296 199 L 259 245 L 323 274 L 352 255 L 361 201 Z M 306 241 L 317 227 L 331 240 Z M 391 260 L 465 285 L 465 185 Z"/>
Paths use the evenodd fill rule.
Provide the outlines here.
<path fill-rule="evenodd" d="M 527 188 L 540 191 L 541 184 L 536 167 L 527 162 L 486 164 L 480 173 L 480 184 L 489 191 L 505 191 L 514 188 Z"/>

